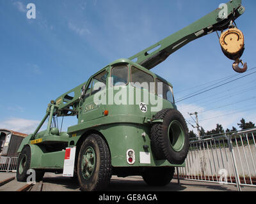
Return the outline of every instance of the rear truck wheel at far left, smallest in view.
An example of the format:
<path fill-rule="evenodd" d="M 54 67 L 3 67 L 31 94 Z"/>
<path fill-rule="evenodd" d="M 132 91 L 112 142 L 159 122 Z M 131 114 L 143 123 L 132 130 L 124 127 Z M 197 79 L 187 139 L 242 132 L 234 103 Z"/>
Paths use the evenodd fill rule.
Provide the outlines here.
<path fill-rule="evenodd" d="M 19 156 L 17 163 L 17 181 L 25 182 L 29 175 L 27 175 L 27 171 L 29 170 L 31 160 L 31 150 L 29 147 L 25 147 Z"/>

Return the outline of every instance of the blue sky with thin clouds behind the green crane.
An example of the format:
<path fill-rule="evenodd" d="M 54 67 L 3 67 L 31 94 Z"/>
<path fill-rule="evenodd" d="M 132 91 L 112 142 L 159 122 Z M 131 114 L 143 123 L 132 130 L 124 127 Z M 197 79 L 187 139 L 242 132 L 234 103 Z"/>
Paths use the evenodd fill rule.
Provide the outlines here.
<path fill-rule="evenodd" d="M 36 19 L 26 17 L 28 3 L 35 4 Z M 109 62 L 129 58 L 179 31 L 221 3 L 225 1 L 0 0 L 0 128 L 30 133 L 51 99 L 85 82 Z M 256 1 L 244 0 L 243 5 L 246 12 L 236 24 L 245 36 L 242 59 L 252 69 L 256 66 Z M 179 99 L 221 78 L 256 71 L 237 75 L 231 64 L 212 33 L 189 43 L 152 71 L 173 84 Z M 178 108 L 191 123 L 188 112 L 200 112 L 200 126 L 205 130 L 217 123 L 232 128 L 242 117 L 256 122 L 255 77 L 252 73 L 181 101 Z M 64 128 L 71 124 L 76 119 L 68 119 Z"/>

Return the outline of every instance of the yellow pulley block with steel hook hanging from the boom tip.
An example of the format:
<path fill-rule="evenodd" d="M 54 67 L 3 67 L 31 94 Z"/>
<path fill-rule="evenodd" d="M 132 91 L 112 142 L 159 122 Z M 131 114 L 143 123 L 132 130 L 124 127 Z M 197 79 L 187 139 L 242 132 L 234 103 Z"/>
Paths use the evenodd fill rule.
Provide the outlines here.
<path fill-rule="evenodd" d="M 221 33 L 220 45 L 222 52 L 229 58 L 234 60 L 232 67 L 238 73 L 244 73 L 247 70 L 247 63 L 243 63 L 240 57 L 244 52 L 244 35 L 237 27 L 231 26 L 230 29 Z M 239 64 L 243 68 L 239 67 Z"/>

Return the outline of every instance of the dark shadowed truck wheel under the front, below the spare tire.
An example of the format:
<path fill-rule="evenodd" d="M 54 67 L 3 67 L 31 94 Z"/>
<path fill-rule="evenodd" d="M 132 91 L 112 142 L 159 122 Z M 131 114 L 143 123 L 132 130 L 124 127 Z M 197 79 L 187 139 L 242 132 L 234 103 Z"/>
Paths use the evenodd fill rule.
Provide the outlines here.
<path fill-rule="evenodd" d="M 148 168 L 142 173 L 142 178 L 150 186 L 166 186 L 170 184 L 173 174 L 174 167 Z"/>

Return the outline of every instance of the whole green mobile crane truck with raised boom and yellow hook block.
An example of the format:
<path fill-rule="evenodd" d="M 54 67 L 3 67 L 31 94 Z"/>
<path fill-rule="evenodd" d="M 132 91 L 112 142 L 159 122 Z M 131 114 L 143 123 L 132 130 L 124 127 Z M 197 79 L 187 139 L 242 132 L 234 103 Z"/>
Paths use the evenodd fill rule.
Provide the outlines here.
<path fill-rule="evenodd" d="M 243 13 L 241 0 L 229 1 L 52 100 L 38 128 L 20 144 L 17 180 L 26 181 L 32 169 L 36 180 L 45 172 L 73 176 L 84 191 L 105 189 L 112 175 L 141 175 L 156 186 L 170 183 L 174 168 L 185 166 L 188 128 L 175 105 L 172 84 L 150 69 L 190 41 L 221 31 L 220 45 L 236 61 L 234 70 L 246 71 L 246 64 L 239 68 L 243 33 L 234 23 Z M 64 116 L 78 121 L 67 132 L 56 125 Z M 47 128 L 40 131 L 47 118 Z"/>

